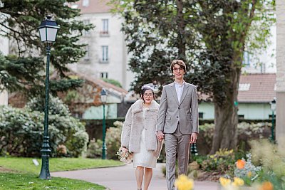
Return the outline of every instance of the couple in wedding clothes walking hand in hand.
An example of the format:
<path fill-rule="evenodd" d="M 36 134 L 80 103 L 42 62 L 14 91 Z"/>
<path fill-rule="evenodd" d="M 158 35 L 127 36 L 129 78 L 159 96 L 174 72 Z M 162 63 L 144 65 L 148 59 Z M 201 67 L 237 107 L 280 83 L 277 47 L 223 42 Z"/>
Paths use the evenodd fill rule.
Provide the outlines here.
<path fill-rule="evenodd" d="M 154 86 L 143 85 L 141 99 L 125 116 L 121 145 L 133 152 L 138 189 L 142 189 L 142 181 L 143 189 L 148 189 L 164 139 L 167 189 L 174 190 L 176 159 L 179 175 L 187 174 L 190 144 L 197 140 L 196 87 L 184 80 L 186 65 L 183 60 L 173 60 L 170 69 L 175 81 L 163 87 L 160 105 L 154 100 Z"/>

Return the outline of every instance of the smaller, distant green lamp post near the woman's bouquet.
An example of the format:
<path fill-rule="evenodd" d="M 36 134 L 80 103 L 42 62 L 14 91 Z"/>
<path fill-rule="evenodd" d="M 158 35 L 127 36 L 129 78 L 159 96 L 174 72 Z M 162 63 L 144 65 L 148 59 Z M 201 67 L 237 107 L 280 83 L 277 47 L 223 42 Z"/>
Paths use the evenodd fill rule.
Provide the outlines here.
<path fill-rule="evenodd" d="M 105 122 L 105 104 L 107 102 L 107 91 L 103 88 L 100 93 L 100 100 L 103 104 L 103 146 L 102 146 L 102 159 L 106 159 L 106 142 L 105 142 L 105 137 L 106 137 L 106 122 Z"/>

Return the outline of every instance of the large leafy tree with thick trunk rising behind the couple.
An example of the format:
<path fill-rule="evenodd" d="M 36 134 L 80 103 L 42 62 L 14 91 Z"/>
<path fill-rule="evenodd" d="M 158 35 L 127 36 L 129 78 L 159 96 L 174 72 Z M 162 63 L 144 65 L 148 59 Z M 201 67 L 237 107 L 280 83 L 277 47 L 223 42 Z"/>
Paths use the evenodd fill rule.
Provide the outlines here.
<path fill-rule="evenodd" d="M 237 101 L 243 53 L 260 48 L 274 23 L 274 0 L 239 1 L 136 1 L 113 0 L 124 19 L 135 75 L 132 88 L 140 92 L 144 83 L 160 87 L 172 82 L 170 63 L 185 60 L 185 80 L 200 93 L 213 97 L 216 122 L 212 153 L 236 145 Z M 254 32 L 257 31 L 257 32 Z M 257 43 L 249 43 L 257 41 Z M 260 46 L 253 46 L 259 44 Z M 227 117 L 222 118 L 224 115 Z M 233 120 L 233 118 L 236 118 Z M 222 130 L 221 130 L 222 129 Z M 230 132 L 228 132 L 230 131 Z M 222 141 L 222 132 L 232 141 Z"/>

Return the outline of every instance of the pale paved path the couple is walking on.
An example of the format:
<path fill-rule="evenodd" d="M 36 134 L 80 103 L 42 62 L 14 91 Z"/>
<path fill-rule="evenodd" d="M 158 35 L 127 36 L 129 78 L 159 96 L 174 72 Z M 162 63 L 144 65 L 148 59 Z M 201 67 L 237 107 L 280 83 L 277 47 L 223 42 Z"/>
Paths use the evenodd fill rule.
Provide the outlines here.
<path fill-rule="evenodd" d="M 152 181 L 148 190 L 167 190 L 165 177 L 162 175 L 162 167 L 165 164 L 157 164 L 153 169 Z M 110 190 L 135 190 L 135 169 L 133 164 L 123 167 L 110 167 L 100 169 L 83 169 L 76 171 L 52 172 L 51 176 L 60 176 L 71 179 L 81 179 L 108 187 Z M 195 190 L 217 190 L 218 184 L 211 181 L 195 181 Z"/>

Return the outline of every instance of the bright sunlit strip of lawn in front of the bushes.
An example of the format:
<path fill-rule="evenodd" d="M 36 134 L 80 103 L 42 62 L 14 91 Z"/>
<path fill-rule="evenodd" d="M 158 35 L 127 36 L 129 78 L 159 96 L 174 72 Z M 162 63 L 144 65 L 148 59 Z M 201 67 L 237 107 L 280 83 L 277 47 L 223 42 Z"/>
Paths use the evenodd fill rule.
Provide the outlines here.
<path fill-rule="evenodd" d="M 37 167 L 33 164 L 32 160 L 33 158 L 0 157 L 0 167 L 39 174 L 41 171 L 41 159 L 36 159 L 40 164 Z M 51 158 L 49 161 L 49 170 L 51 172 L 99 167 L 117 167 L 123 165 L 123 162 L 112 159 Z"/>

